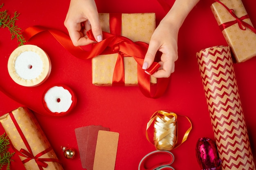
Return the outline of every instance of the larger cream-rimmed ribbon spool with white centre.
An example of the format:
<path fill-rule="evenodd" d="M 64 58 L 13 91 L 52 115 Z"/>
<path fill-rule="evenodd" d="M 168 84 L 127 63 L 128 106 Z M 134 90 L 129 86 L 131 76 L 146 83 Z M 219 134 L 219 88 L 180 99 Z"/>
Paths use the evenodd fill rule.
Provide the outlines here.
<path fill-rule="evenodd" d="M 52 68 L 49 56 L 35 45 L 16 48 L 9 57 L 7 67 L 14 82 L 28 87 L 45 82 Z"/>

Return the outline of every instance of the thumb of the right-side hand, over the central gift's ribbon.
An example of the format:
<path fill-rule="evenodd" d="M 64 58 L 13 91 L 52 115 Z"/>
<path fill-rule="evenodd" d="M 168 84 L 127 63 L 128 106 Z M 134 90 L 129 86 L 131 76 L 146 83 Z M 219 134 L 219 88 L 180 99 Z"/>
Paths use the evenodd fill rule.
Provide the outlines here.
<path fill-rule="evenodd" d="M 158 51 L 157 44 L 154 44 L 153 42 L 149 42 L 148 51 L 145 55 L 142 69 L 146 70 L 151 66 L 151 64 L 155 60 L 155 55 L 157 51 Z"/>

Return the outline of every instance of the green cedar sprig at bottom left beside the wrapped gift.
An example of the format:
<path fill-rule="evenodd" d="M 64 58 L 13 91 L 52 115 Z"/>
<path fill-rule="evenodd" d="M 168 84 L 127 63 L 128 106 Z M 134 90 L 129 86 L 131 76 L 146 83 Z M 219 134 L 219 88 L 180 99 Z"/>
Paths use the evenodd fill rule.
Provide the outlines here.
<path fill-rule="evenodd" d="M 15 152 L 11 153 L 8 151 L 9 144 L 9 139 L 4 133 L 0 136 L 0 169 L 6 165 L 6 170 L 10 170 L 10 163 L 13 161 L 11 157 Z"/>

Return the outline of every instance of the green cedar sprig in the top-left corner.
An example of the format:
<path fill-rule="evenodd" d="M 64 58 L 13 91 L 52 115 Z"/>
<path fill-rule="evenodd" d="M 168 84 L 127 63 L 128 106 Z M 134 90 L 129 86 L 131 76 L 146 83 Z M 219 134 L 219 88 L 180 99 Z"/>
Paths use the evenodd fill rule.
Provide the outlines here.
<path fill-rule="evenodd" d="M 4 4 L 1 4 L 0 8 L 2 8 L 3 6 Z M 14 16 L 11 18 L 10 15 L 7 13 L 7 10 L 0 11 L 0 28 L 8 28 L 11 33 L 11 40 L 16 37 L 18 39 L 17 42 L 20 43 L 18 46 L 21 46 L 24 45 L 26 40 L 21 33 L 21 29 L 17 25 L 15 25 L 15 21 L 18 20 L 19 15 L 20 14 L 15 11 Z"/>

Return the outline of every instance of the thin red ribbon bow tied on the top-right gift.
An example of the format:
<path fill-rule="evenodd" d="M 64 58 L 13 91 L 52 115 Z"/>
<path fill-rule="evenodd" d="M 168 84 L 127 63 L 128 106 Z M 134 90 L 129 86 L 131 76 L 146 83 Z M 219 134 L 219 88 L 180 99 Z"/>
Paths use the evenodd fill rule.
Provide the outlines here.
<path fill-rule="evenodd" d="M 250 30 L 252 30 L 254 33 L 256 33 L 256 29 L 253 26 L 251 26 L 250 24 L 243 21 L 243 20 L 249 18 L 248 14 L 238 18 L 238 16 L 236 16 L 236 14 L 234 12 L 234 9 L 229 9 L 225 4 L 223 4 L 219 0 L 215 0 L 215 1 L 222 4 L 222 6 L 225 7 L 225 9 L 227 9 L 227 11 L 229 11 L 229 13 L 236 19 L 234 21 L 229 21 L 229 22 L 225 22 L 225 23 L 221 24 L 219 26 L 221 31 L 228 28 L 229 26 L 232 26 L 232 25 L 238 23 L 238 26 L 241 30 L 246 30 L 246 27 L 247 27 Z"/>

